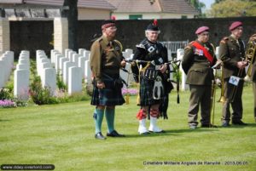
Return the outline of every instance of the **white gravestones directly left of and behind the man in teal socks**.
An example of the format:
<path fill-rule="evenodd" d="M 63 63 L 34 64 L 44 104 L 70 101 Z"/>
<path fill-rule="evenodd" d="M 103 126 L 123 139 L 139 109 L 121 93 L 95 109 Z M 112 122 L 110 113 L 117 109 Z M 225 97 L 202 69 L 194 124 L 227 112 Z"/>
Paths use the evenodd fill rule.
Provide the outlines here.
<path fill-rule="evenodd" d="M 55 65 L 55 70 L 62 74 L 62 80 L 68 87 L 68 94 L 73 94 L 74 92 L 79 92 L 82 90 L 81 83 L 83 77 L 85 83 L 91 83 L 90 51 L 84 48 L 79 48 L 79 54 L 77 54 L 71 49 L 65 49 L 65 54 L 61 54 L 57 50 L 53 49 L 51 50 L 50 54 L 50 59 Z M 125 59 L 131 59 L 133 55 L 132 49 L 125 49 L 123 55 Z M 129 70 L 129 65 L 130 64 L 127 63 L 125 66 L 126 70 Z M 79 67 L 79 69 L 75 69 L 73 67 Z M 76 74 L 73 75 L 73 73 Z M 124 80 L 127 80 L 127 72 L 120 71 L 120 75 Z"/>

